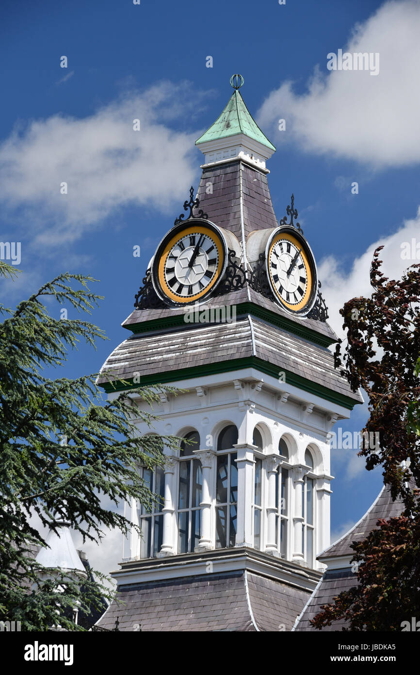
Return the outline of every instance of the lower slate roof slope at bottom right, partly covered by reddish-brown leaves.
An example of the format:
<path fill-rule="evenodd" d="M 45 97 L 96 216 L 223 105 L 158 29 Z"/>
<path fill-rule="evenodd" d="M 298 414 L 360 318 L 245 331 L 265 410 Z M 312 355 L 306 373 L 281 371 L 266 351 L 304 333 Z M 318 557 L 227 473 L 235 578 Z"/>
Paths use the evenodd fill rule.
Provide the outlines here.
<path fill-rule="evenodd" d="M 320 583 L 313 591 L 307 605 L 305 605 L 301 616 L 297 620 L 293 630 L 307 631 L 316 630 L 310 624 L 310 620 L 319 614 L 322 605 L 332 603 L 336 595 L 340 595 L 343 591 L 348 591 L 349 588 L 357 584 L 357 577 L 349 567 L 340 570 L 330 570 L 324 573 Z M 342 630 L 347 625 L 345 621 L 334 621 L 331 626 L 325 626 L 322 630 Z"/>

